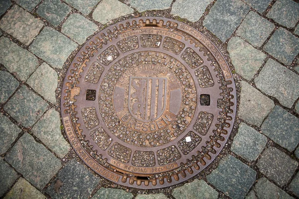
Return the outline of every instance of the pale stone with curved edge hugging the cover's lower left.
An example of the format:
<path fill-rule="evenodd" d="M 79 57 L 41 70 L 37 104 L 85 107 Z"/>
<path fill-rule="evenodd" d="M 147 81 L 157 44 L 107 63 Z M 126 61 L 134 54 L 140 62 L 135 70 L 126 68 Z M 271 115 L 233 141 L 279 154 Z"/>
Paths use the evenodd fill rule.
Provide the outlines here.
<path fill-rule="evenodd" d="M 60 115 L 54 108 L 48 110 L 41 117 L 31 132 L 60 158 L 68 153 L 70 146 L 61 134 Z"/>

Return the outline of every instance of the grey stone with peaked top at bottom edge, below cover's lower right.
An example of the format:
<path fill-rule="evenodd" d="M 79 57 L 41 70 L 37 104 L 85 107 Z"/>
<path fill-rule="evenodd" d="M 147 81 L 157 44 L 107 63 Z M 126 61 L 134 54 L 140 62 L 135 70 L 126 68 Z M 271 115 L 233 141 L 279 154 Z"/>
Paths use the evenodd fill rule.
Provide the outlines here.
<path fill-rule="evenodd" d="M 218 192 L 203 180 L 195 179 L 192 183 L 172 190 L 172 196 L 175 199 L 217 199 Z"/>

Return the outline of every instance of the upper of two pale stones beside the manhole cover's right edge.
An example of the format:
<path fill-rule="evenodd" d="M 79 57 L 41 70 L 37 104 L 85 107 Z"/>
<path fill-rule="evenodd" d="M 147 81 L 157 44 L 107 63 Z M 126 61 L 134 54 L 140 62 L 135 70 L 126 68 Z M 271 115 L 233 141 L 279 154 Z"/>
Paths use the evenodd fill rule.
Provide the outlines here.
<path fill-rule="evenodd" d="M 233 37 L 228 42 L 227 50 L 236 72 L 246 80 L 251 80 L 267 57 L 239 37 Z"/>

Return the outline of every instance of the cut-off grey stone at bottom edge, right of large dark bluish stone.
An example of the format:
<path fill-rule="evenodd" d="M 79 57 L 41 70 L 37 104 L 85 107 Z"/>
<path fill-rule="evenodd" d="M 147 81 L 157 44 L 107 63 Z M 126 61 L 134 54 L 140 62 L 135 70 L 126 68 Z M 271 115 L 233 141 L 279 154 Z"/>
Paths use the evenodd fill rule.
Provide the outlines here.
<path fill-rule="evenodd" d="M 92 197 L 92 199 L 132 199 L 133 194 L 127 193 L 124 190 L 101 188 Z M 136 198 L 137 199 L 137 198 Z"/>

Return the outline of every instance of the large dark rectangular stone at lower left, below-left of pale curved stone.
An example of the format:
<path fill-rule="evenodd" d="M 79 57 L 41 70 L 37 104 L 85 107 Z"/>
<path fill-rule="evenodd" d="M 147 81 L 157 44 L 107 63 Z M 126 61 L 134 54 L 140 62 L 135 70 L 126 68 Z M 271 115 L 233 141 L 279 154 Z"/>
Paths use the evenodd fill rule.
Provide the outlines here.
<path fill-rule="evenodd" d="M 61 168 L 60 160 L 28 133 L 15 143 L 5 160 L 38 189 L 42 189 Z"/>

